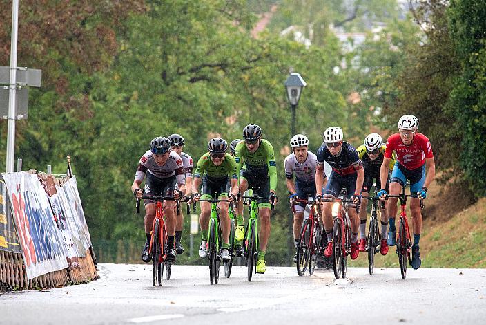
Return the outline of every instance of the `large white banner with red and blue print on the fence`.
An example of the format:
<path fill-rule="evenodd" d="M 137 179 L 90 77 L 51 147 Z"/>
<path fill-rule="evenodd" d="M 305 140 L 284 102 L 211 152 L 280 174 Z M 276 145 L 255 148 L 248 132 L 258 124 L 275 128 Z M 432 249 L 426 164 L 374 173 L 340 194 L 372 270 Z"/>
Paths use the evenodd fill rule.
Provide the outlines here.
<path fill-rule="evenodd" d="M 26 264 L 27 278 L 68 267 L 68 252 L 57 228 L 48 196 L 36 175 L 26 172 L 4 174 Z"/>

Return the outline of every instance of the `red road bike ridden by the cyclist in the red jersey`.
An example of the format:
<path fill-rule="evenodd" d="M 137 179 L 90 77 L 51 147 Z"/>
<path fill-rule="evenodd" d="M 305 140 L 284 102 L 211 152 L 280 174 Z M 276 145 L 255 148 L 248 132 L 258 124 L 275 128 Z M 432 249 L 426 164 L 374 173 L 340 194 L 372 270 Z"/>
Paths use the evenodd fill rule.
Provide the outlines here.
<path fill-rule="evenodd" d="M 408 183 L 407 183 L 408 185 Z M 386 198 L 398 198 L 400 199 L 400 206 L 402 211 L 400 212 L 400 222 L 398 223 L 398 231 L 396 232 L 396 253 L 398 254 L 398 261 L 400 261 L 400 272 L 402 279 L 407 277 L 407 259 L 411 264 L 410 249 L 411 249 L 411 236 L 409 230 L 409 221 L 407 219 L 407 198 L 418 198 L 417 194 L 405 194 L 405 186 L 402 187 L 402 193 L 398 195 L 387 195 Z M 382 207 L 385 202 L 382 201 Z M 424 208 L 423 200 L 420 200 L 420 208 Z"/>

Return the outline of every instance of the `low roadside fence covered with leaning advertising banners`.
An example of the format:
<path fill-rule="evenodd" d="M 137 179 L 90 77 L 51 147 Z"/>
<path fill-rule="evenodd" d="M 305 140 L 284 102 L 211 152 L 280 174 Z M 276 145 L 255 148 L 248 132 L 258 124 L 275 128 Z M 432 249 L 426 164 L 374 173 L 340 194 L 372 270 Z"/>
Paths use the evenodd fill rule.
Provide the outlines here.
<path fill-rule="evenodd" d="M 3 174 L 0 210 L 0 291 L 54 288 L 98 277 L 74 176 Z"/>

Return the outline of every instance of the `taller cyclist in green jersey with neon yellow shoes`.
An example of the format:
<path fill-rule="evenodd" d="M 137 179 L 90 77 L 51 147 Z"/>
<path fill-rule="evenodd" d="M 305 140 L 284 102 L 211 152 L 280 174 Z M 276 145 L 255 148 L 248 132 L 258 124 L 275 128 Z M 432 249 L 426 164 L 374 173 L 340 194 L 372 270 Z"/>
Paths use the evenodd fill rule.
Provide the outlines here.
<path fill-rule="evenodd" d="M 253 189 L 253 194 L 268 197 L 269 200 L 259 200 L 260 207 L 260 250 L 257 259 L 257 273 L 266 270 L 265 253 L 270 236 L 271 202 L 277 203 L 277 167 L 275 154 L 269 141 L 262 139 L 262 129 L 256 124 L 246 125 L 243 129 L 244 141 L 235 148 L 237 172 L 240 175 L 240 193 Z M 242 168 L 244 165 L 244 168 Z M 237 229 L 235 239 L 241 241 L 244 237 L 242 203 L 238 204 Z"/>

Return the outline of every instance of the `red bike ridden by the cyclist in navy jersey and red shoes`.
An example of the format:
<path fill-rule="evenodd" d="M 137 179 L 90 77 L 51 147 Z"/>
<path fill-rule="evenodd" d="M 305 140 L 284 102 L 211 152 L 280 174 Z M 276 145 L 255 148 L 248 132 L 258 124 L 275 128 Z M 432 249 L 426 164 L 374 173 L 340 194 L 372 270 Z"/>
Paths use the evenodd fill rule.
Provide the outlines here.
<path fill-rule="evenodd" d="M 334 277 L 344 279 L 347 271 L 347 256 L 351 252 L 351 221 L 348 208 L 355 207 L 359 213 L 359 205 L 347 198 L 347 190 L 342 189 L 338 198 L 322 198 L 321 202 L 334 202 L 333 205 L 333 271 Z"/>

